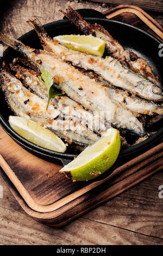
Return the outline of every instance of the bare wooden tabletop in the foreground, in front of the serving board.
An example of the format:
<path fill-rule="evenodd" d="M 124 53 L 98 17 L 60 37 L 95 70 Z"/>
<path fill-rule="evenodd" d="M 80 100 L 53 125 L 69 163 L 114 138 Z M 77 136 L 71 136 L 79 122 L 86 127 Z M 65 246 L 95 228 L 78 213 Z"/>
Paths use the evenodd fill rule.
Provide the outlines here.
<path fill-rule="evenodd" d="M 158 197 L 162 174 L 151 176 L 60 229 L 24 214 L 0 178 L 4 188 L 0 245 L 163 245 L 163 207 Z"/>

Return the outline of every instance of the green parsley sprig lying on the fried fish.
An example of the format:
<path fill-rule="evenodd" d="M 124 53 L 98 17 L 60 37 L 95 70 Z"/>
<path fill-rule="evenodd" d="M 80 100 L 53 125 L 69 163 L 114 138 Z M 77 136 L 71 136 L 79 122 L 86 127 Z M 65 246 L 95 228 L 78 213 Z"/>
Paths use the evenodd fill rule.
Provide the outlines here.
<path fill-rule="evenodd" d="M 48 103 L 46 107 L 46 111 L 49 106 L 49 102 L 52 99 L 52 97 L 57 96 L 57 95 L 62 95 L 59 90 L 53 87 L 54 81 L 53 77 L 47 70 L 42 70 L 41 76 L 39 77 L 40 81 L 45 84 L 46 88 L 48 89 Z"/>

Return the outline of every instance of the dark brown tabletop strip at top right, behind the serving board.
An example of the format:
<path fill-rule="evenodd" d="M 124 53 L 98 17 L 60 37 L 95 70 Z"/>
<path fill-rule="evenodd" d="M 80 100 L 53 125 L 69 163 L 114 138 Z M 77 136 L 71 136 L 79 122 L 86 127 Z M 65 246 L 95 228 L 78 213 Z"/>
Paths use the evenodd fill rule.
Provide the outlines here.
<path fill-rule="evenodd" d="M 163 2 L 161 0 L 92 0 L 92 2 L 108 3 L 112 5 L 133 4 L 145 10 L 163 12 Z"/>

